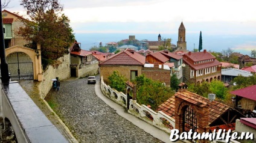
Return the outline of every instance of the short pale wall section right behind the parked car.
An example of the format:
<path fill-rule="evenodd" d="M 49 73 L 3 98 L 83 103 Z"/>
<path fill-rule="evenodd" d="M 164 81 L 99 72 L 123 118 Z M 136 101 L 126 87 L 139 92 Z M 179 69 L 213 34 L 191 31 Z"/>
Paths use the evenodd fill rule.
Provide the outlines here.
<path fill-rule="evenodd" d="M 99 72 L 98 62 L 94 64 L 87 64 L 82 68 L 78 69 L 78 77 L 84 78 L 86 76 L 97 75 Z"/>

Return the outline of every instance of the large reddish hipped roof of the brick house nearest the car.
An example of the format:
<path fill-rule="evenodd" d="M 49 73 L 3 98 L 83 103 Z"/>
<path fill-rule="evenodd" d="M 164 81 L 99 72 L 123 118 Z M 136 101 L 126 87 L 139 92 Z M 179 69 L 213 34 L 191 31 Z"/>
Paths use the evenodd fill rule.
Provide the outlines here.
<path fill-rule="evenodd" d="M 99 65 L 144 65 L 145 56 L 135 52 L 134 50 L 126 49 L 117 53 L 110 58 L 105 59 Z"/>

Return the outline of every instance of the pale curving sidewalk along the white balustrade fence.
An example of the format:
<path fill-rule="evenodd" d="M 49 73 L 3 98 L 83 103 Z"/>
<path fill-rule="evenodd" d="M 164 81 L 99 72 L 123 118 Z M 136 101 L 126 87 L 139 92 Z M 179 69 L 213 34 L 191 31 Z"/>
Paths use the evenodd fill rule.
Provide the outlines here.
<path fill-rule="evenodd" d="M 153 137 L 158 138 L 163 142 L 171 142 L 170 135 L 168 135 L 168 133 L 158 129 L 155 126 L 152 126 L 149 123 L 146 123 L 145 121 L 133 116 L 132 114 L 129 114 L 127 111 L 124 110 L 123 106 L 118 105 L 117 103 L 113 102 L 112 100 L 104 96 L 100 89 L 100 82 L 97 82 L 97 84 L 95 84 L 95 93 L 98 97 L 100 97 L 101 100 L 103 100 L 103 102 L 105 102 L 111 108 L 115 109 L 117 114 L 121 117 L 126 118 L 126 120 L 130 121 L 135 126 L 138 126 L 145 132 L 150 133 L 150 135 L 152 135 Z"/>

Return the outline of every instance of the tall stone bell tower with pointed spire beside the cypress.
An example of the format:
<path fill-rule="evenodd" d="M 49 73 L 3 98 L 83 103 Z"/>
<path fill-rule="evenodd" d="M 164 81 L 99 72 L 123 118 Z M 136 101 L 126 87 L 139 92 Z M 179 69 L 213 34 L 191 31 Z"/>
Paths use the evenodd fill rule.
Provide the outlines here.
<path fill-rule="evenodd" d="M 183 51 L 187 50 L 186 29 L 185 26 L 183 25 L 183 22 L 181 22 L 181 26 L 179 26 L 177 49 Z"/>

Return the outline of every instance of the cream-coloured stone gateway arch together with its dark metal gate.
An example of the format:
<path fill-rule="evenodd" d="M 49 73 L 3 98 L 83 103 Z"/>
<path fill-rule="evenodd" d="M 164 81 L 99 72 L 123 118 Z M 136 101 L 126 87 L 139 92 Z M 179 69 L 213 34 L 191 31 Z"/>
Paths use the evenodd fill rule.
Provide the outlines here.
<path fill-rule="evenodd" d="M 42 61 L 40 46 L 30 49 L 24 46 L 13 46 L 5 49 L 6 60 L 11 81 L 42 81 Z"/>

